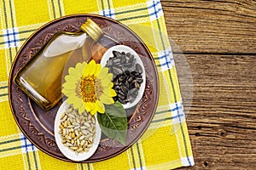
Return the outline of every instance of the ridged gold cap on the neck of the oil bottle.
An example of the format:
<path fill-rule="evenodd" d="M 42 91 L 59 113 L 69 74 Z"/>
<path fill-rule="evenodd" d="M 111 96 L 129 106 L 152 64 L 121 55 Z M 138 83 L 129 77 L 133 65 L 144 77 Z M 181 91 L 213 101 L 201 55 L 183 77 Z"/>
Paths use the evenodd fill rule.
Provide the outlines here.
<path fill-rule="evenodd" d="M 81 30 L 85 31 L 96 42 L 103 35 L 102 29 L 91 19 L 86 20 L 86 22 L 81 26 Z"/>

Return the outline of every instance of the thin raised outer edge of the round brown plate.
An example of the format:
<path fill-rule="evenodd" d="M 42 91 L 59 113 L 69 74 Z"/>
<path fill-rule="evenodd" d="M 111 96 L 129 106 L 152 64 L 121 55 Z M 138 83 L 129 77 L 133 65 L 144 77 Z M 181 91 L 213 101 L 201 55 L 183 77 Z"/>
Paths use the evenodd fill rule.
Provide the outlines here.
<path fill-rule="evenodd" d="M 154 81 L 155 81 L 155 83 L 156 83 L 156 85 L 157 85 L 157 88 L 154 89 L 154 91 L 155 91 L 155 92 L 154 92 L 154 93 L 155 93 L 155 96 L 154 96 L 154 99 L 155 99 L 154 107 L 153 107 L 152 114 L 149 116 L 149 119 L 148 119 L 147 124 L 143 127 L 142 132 L 137 135 L 137 138 L 136 138 L 136 139 L 134 139 L 133 141 L 131 141 L 131 144 L 125 145 L 125 147 L 123 147 L 122 150 L 119 150 L 119 151 L 113 153 L 113 154 L 110 155 L 110 156 L 105 156 L 105 157 L 103 157 L 103 158 L 101 158 L 101 159 L 96 159 L 96 160 L 90 160 L 90 159 L 89 159 L 89 160 L 86 160 L 86 161 L 73 161 L 73 160 L 67 159 L 66 157 L 65 157 L 65 158 L 62 158 L 62 157 L 60 157 L 60 156 L 55 156 L 55 155 L 54 155 L 53 153 L 51 153 L 49 150 L 44 150 L 43 148 L 41 148 L 41 146 L 40 146 L 39 144 L 36 144 L 36 143 L 31 139 L 31 136 L 29 136 L 29 135 L 26 133 L 26 131 L 25 131 L 25 130 L 23 129 L 23 127 L 20 125 L 20 123 L 19 123 L 19 121 L 18 121 L 18 118 L 15 116 L 15 110 L 14 110 L 14 106 L 13 106 L 13 105 L 14 105 L 14 104 L 13 104 L 13 96 L 14 96 L 14 94 L 11 93 L 11 88 L 14 88 L 14 87 L 13 87 L 13 84 L 14 84 L 14 82 L 13 82 L 13 78 L 14 78 L 14 68 L 15 68 L 17 59 L 18 59 L 18 57 L 20 56 L 21 51 L 24 50 L 24 47 L 26 47 L 27 43 L 30 42 L 30 41 L 32 41 L 32 38 L 33 38 L 34 36 L 36 36 L 36 34 L 38 34 L 38 32 L 44 31 L 44 28 L 47 28 L 48 26 L 53 25 L 53 24 L 55 24 L 55 23 L 57 23 L 57 22 L 61 22 L 61 20 L 68 20 L 68 19 L 72 19 L 72 18 L 76 18 L 76 17 L 84 17 L 84 18 L 87 18 L 87 17 L 96 17 L 96 18 L 101 19 L 101 20 L 109 20 L 109 21 L 112 21 L 113 23 L 115 23 L 115 24 L 117 24 L 117 25 L 119 25 L 119 26 L 122 26 L 125 30 L 130 31 L 131 34 L 132 34 L 134 37 L 136 37 L 136 38 L 140 41 L 140 43 L 142 43 L 143 48 L 146 50 L 146 52 L 148 53 L 148 56 L 149 56 L 150 60 L 152 61 L 152 64 L 153 64 L 153 67 L 154 67 L 154 72 L 156 73 L 156 74 L 154 75 L 155 78 L 156 78 L 156 80 L 154 80 Z M 27 61 L 26 61 L 26 62 L 27 62 Z M 20 68 L 17 68 L 17 69 L 20 69 Z M 147 79 L 147 80 L 148 80 L 148 79 Z M 136 34 L 134 31 L 131 31 L 130 28 L 128 28 L 128 27 L 125 26 L 124 24 L 120 23 L 118 20 L 113 20 L 113 19 L 104 17 L 104 16 L 102 16 L 102 15 L 98 15 L 98 14 L 72 14 L 72 15 L 67 15 L 67 16 L 64 16 L 64 17 L 55 19 L 55 20 L 51 20 L 51 21 L 49 21 L 48 23 L 44 24 L 44 26 L 41 26 L 41 27 L 38 28 L 36 31 L 34 31 L 34 32 L 32 33 L 32 35 L 26 39 L 26 42 L 24 42 L 24 43 L 21 45 L 21 47 L 20 47 L 18 53 L 15 55 L 15 59 L 14 59 L 14 61 L 13 61 L 13 64 L 11 65 L 11 69 L 10 69 L 10 72 L 9 72 L 9 105 L 10 105 L 10 108 L 11 108 L 12 115 L 14 116 L 15 122 L 16 122 L 16 124 L 18 125 L 18 127 L 20 128 L 20 131 L 21 131 L 23 134 L 25 134 L 26 138 L 27 138 L 30 142 L 32 142 L 32 144 L 34 144 L 39 150 L 42 150 L 44 153 L 48 154 L 49 156 L 53 156 L 53 157 L 55 157 L 55 158 L 57 158 L 57 159 L 60 159 L 60 160 L 62 160 L 62 161 L 71 161 L 71 162 L 83 162 L 83 163 L 88 163 L 88 162 L 103 161 L 103 160 L 107 160 L 107 159 L 109 159 L 109 158 L 112 158 L 113 156 L 117 156 L 117 155 L 119 155 L 120 153 L 124 152 L 125 150 L 129 149 L 129 148 L 131 147 L 131 145 L 132 145 L 132 144 L 135 144 L 135 143 L 137 142 L 137 140 L 141 138 L 141 136 L 143 135 L 143 133 L 145 133 L 146 129 L 148 128 L 150 122 L 152 121 L 152 119 L 153 119 L 153 117 L 154 117 L 154 113 L 155 113 L 155 111 L 156 111 L 157 104 L 158 104 L 158 101 L 159 101 L 159 94 L 160 94 L 160 88 L 159 88 L 159 87 L 160 87 L 160 84 L 159 84 L 159 83 L 160 83 L 160 82 L 159 82 L 159 77 L 158 77 L 158 71 L 157 71 L 157 69 L 156 69 L 156 65 L 155 65 L 155 63 L 154 63 L 153 56 L 152 56 L 152 54 L 150 53 L 148 47 L 147 47 L 147 46 L 145 45 L 145 43 L 142 41 L 142 39 L 141 39 L 140 37 L 138 37 L 137 34 Z M 19 92 L 21 92 L 20 88 L 16 88 L 16 89 L 17 89 Z M 21 92 L 21 94 L 22 94 L 22 92 Z M 16 94 L 16 95 L 19 95 L 19 94 Z M 28 101 L 30 101 L 28 96 L 26 96 L 26 98 L 28 99 Z M 26 104 L 26 105 L 28 105 L 28 104 Z M 21 107 L 21 106 L 22 106 L 22 105 L 20 105 L 20 107 Z M 23 110 L 24 110 L 24 108 L 23 108 Z M 136 110 L 136 111 L 137 111 L 137 110 Z M 26 114 L 26 112 L 20 112 L 20 114 Z M 134 115 L 133 115 L 133 116 L 134 116 Z M 130 121 L 129 121 L 128 123 L 131 122 L 131 119 L 133 118 L 133 116 L 131 116 Z M 34 130 L 37 131 L 37 129 L 34 129 Z M 38 133 L 38 134 L 39 134 L 39 133 Z M 42 134 L 44 135 L 44 133 L 40 133 L 40 134 L 41 134 L 41 135 L 42 135 Z M 44 138 L 44 137 L 42 137 L 42 138 Z M 55 141 L 51 141 L 51 139 L 49 139 L 49 140 L 50 140 L 49 143 L 55 142 Z M 53 145 L 52 147 L 54 147 L 54 145 Z M 58 148 L 57 148 L 56 150 L 58 150 Z"/>

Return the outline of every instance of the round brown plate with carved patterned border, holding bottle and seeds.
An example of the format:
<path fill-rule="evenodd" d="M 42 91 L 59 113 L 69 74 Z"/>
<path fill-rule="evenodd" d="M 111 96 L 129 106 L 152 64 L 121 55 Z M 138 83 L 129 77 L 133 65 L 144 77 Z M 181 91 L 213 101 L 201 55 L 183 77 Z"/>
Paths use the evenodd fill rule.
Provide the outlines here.
<path fill-rule="evenodd" d="M 12 65 L 9 77 L 9 103 L 15 121 L 20 127 L 20 130 L 26 135 L 26 138 L 29 139 L 32 144 L 35 144 L 38 149 L 64 161 L 71 160 L 61 154 L 54 137 L 55 115 L 61 102 L 55 105 L 53 109 L 44 111 L 15 85 L 14 77 L 16 72 L 26 65 L 27 61 L 31 59 L 57 31 L 78 31 L 79 27 L 87 18 L 94 20 L 108 37 L 113 38 L 119 44 L 131 47 L 140 55 L 146 71 L 146 88 L 140 102 L 126 111 L 129 125 L 125 146 L 102 135 L 96 153 L 91 156 L 90 159 L 81 162 L 106 160 L 110 157 L 117 156 L 119 153 L 131 147 L 131 145 L 143 135 L 151 122 L 159 97 L 158 74 L 152 55 L 142 40 L 137 37 L 133 31 L 118 21 L 94 14 L 77 14 L 53 20 L 38 29 L 38 31 L 35 31 L 20 48 L 14 64 Z"/>

